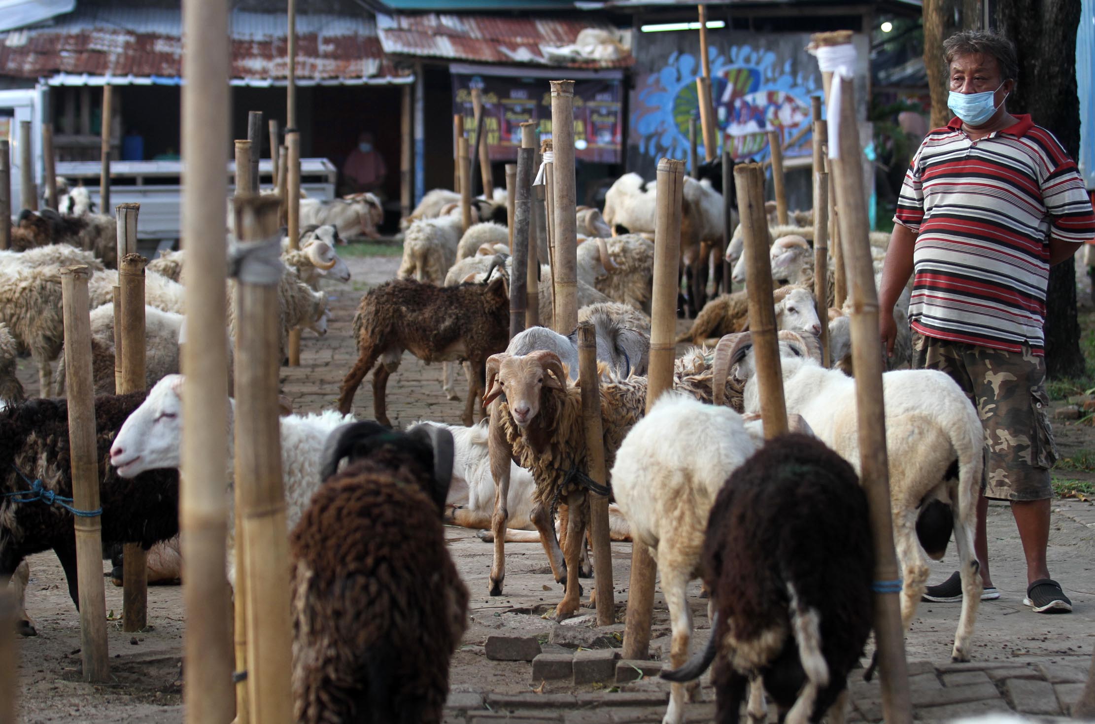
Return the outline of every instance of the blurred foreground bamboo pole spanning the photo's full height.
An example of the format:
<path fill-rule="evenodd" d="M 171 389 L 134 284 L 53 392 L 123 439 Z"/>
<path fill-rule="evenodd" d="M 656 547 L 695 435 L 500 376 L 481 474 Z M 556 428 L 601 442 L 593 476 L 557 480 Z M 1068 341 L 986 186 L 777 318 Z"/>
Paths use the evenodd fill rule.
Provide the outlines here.
<path fill-rule="evenodd" d="M 229 722 L 235 711 L 224 576 L 228 531 L 228 341 L 224 335 L 224 141 L 229 44 L 226 0 L 183 2 L 183 198 L 186 344 L 182 345 L 183 703 L 187 724 Z M 210 43 L 208 38 L 224 38 Z M 245 711 L 239 724 L 246 723 Z"/>

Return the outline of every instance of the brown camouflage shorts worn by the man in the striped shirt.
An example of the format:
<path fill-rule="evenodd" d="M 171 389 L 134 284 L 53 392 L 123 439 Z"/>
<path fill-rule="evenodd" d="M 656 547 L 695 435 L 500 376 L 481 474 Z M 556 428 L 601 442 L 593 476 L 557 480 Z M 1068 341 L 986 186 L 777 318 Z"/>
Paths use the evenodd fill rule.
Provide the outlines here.
<path fill-rule="evenodd" d="M 947 342 L 913 333 L 913 369 L 949 375 L 977 406 L 984 426 L 981 491 L 998 501 L 1053 496 L 1049 469 L 1057 446 L 1049 424 L 1042 357 Z"/>

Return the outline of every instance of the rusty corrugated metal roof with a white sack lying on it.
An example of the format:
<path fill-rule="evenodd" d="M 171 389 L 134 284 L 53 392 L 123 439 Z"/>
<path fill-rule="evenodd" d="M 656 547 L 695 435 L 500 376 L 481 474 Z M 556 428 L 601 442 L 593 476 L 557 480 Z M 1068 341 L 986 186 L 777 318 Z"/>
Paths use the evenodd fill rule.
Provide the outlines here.
<path fill-rule="evenodd" d="M 631 54 L 616 60 L 554 62 L 545 47 L 572 45 L 587 27 L 615 34 L 603 21 L 502 18 L 496 15 L 377 15 L 380 44 L 392 55 L 474 62 L 528 62 L 568 68 L 625 68 Z"/>

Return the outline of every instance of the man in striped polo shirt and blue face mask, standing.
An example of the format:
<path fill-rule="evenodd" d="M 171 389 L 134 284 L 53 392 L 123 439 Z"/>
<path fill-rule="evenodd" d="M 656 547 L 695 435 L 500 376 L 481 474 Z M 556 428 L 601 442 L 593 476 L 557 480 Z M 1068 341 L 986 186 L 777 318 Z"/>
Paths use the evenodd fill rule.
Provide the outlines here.
<path fill-rule="evenodd" d="M 1067 612 L 1046 565 L 1057 457 L 1049 425 L 1042 323 L 1049 267 L 1095 237 L 1076 164 L 1052 134 L 1005 107 L 1017 64 L 1011 41 L 966 31 L 943 44 L 947 105 L 906 173 L 883 269 L 879 332 L 892 354 L 894 306 L 915 272 L 909 320 L 914 367 L 954 378 L 984 425 L 986 471 L 975 548 L 982 599 L 989 574 L 988 501 L 1010 501 L 1027 564 L 1024 604 Z M 955 573 L 925 598 L 961 600 Z"/>

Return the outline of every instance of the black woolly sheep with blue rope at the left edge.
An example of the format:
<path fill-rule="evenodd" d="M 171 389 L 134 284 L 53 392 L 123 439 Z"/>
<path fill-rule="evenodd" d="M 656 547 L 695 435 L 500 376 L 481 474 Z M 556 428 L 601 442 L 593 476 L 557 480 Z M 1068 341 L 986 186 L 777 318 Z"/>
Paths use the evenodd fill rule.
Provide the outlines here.
<path fill-rule="evenodd" d="M 148 472 L 128 481 L 106 464 L 111 440 L 143 399 L 143 392 L 95 398 L 102 538 L 107 545 L 140 543 L 148 549 L 178 532 L 175 471 Z M 24 558 L 53 549 L 65 570 L 69 596 L 79 605 L 73 514 L 62 505 L 72 504 L 68 429 L 65 400 L 27 400 L 0 412 L 0 587 Z M 36 481 L 42 494 L 35 490 Z M 22 591 L 16 594 L 22 605 Z M 33 635 L 25 611 L 21 620 L 22 632 Z"/>

